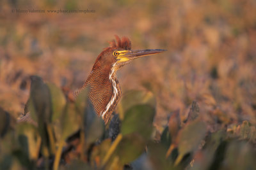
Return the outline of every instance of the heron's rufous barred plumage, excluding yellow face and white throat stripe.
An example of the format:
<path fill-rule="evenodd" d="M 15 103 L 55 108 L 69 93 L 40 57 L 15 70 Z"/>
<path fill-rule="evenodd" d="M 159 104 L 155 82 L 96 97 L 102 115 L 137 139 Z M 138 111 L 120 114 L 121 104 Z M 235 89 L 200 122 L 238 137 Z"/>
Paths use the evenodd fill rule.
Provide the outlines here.
<path fill-rule="evenodd" d="M 111 74 L 111 69 L 115 62 L 113 60 L 113 63 L 111 62 L 110 64 L 108 64 L 109 60 L 111 61 L 111 57 L 113 58 L 113 56 L 109 56 L 109 52 L 115 49 L 131 50 L 131 41 L 129 40 L 129 38 L 122 37 L 122 39 L 120 39 L 118 36 L 115 35 L 115 39 L 116 41 L 110 41 L 109 47 L 104 48 L 104 51 L 101 52 L 100 55 L 97 57 L 95 64 L 93 65 L 92 71 L 89 74 L 83 87 L 74 92 L 74 96 L 76 97 L 81 90 L 85 89 L 86 87 L 90 87 L 89 99 L 92 102 L 93 107 L 99 117 L 101 116 L 102 111 L 106 110 L 109 101 L 111 101 L 111 97 L 114 95 L 113 82 L 112 80 L 109 80 L 109 74 Z M 113 111 L 115 110 L 116 105 L 122 94 L 119 82 L 115 76 L 116 70 L 114 70 L 112 78 L 113 81 L 115 81 L 118 93 L 116 94 L 115 101 L 113 102 L 113 104 L 111 104 L 103 117 L 106 123 L 108 122 Z"/>

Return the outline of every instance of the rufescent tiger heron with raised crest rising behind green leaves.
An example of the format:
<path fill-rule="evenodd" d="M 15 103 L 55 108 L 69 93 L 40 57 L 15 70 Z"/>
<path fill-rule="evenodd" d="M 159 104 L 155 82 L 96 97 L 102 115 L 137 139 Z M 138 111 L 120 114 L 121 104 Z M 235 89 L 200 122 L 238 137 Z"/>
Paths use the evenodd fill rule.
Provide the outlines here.
<path fill-rule="evenodd" d="M 127 37 L 120 39 L 115 36 L 108 48 L 105 48 L 97 57 L 92 71 L 83 87 L 74 92 L 76 97 L 81 90 L 90 87 L 89 99 L 99 117 L 108 123 L 121 97 L 120 84 L 116 78 L 116 71 L 131 60 L 147 55 L 161 53 L 166 50 L 131 50 L 131 41 Z"/>

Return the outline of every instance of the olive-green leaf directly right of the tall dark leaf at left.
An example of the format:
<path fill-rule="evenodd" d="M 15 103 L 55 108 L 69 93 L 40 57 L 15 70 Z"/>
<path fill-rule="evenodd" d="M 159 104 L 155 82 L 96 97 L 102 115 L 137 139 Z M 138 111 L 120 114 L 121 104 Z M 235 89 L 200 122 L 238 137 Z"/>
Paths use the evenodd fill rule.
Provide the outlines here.
<path fill-rule="evenodd" d="M 66 97 L 62 90 L 52 83 L 46 83 L 51 92 L 52 122 L 61 117 L 66 104 Z"/>

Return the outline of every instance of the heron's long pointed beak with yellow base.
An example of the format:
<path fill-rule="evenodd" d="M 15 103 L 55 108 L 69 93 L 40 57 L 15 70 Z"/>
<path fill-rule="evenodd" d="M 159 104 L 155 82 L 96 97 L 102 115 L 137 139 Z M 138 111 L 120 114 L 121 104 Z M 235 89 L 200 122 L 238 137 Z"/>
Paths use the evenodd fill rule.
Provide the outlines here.
<path fill-rule="evenodd" d="M 125 62 L 127 60 L 137 59 L 147 55 L 154 55 L 156 53 L 161 53 L 165 51 L 166 50 L 162 49 L 118 51 L 119 55 L 116 57 L 116 59 L 118 59 L 118 62 Z"/>

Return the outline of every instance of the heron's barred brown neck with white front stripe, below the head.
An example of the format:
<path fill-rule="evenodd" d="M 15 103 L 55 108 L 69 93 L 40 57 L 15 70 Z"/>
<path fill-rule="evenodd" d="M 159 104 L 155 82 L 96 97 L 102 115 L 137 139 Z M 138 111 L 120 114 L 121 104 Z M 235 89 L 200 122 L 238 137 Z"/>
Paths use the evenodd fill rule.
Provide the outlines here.
<path fill-rule="evenodd" d="M 90 87 L 89 98 L 97 115 L 108 122 L 122 93 L 115 67 L 92 71 L 83 87 L 75 92 L 75 96 L 86 87 Z"/>

